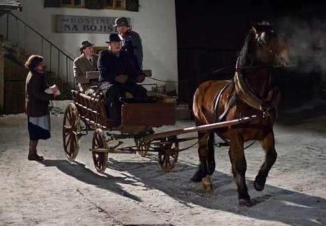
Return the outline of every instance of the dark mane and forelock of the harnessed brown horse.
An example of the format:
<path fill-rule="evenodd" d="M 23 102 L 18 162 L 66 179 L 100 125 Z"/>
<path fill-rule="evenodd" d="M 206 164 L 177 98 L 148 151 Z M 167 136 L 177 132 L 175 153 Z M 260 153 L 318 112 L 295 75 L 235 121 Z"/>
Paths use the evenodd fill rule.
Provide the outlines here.
<path fill-rule="evenodd" d="M 261 23 L 256 24 L 255 29 L 257 31 L 270 31 L 272 30 L 272 24 L 269 21 L 263 21 Z M 254 33 L 254 27 L 250 29 L 249 34 L 247 35 L 246 39 L 244 40 L 244 45 L 239 55 L 239 62 L 238 66 L 244 66 L 247 62 L 247 57 L 249 56 L 251 42 L 256 37 Z"/>

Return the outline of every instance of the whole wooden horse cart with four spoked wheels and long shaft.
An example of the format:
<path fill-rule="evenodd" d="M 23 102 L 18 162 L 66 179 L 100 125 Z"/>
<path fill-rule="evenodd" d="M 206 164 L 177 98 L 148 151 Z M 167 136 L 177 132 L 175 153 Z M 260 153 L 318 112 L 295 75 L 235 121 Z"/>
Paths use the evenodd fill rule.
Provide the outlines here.
<path fill-rule="evenodd" d="M 112 128 L 107 118 L 104 96 L 86 96 L 72 90 L 74 103 L 69 103 L 63 116 L 63 149 L 68 160 L 73 161 L 79 151 L 79 140 L 88 131 L 93 130 L 92 151 L 95 169 L 103 173 L 107 167 L 109 153 L 139 153 L 146 156 L 148 151 L 157 152 L 157 161 L 164 172 L 169 172 L 178 160 L 179 143 L 194 140 L 197 137 L 178 139 L 178 135 L 215 130 L 238 123 L 254 120 L 256 116 L 246 117 L 222 123 L 196 126 L 164 133 L 154 133 L 155 128 L 172 126 L 176 123 L 176 106 L 162 100 L 150 103 L 125 103 L 122 106 L 121 126 Z M 132 101 L 134 102 L 134 101 Z M 134 139 L 133 146 L 123 146 L 123 140 Z"/>

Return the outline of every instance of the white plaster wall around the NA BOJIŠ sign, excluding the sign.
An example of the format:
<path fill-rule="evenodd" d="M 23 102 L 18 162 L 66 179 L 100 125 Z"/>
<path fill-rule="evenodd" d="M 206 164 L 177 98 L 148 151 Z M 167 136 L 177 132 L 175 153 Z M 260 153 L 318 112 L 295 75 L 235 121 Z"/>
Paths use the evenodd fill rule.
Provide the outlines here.
<path fill-rule="evenodd" d="M 78 15 L 91 17 L 130 17 L 132 29 L 137 31 L 143 42 L 143 69 L 151 69 L 153 77 L 157 80 L 178 81 L 177 64 L 177 40 L 176 40 L 176 12 L 174 0 L 139 0 L 139 12 L 126 10 L 89 10 L 78 8 L 44 8 L 43 0 L 21 1 L 22 12 L 12 11 L 17 17 L 29 24 L 50 40 L 54 45 L 60 47 L 63 52 L 72 55 L 73 58 L 79 56 L 79 47 L 82 40 L 89 40 L 95 46 L 107 46 L 108 34 L 102 33 L 56 33 L 55 15 Z M 6 15 L 0 18 L 0 34 L 6 38 Z M 10 22 L 10 31 L 13 31 L 15 22 Z M 9 33 L 10 33 L 9 31 Z M 26 36 L 33 36 L 27 32 Z M 22 38 L 22 34 L 18 39 Z M 15 38 L 14 38 L 15 39 Z M 26 38 L 27 40 L 27 38 Z M 15 42 L 15 40 L 13 40 Z M 40 52 L 40 40 L 38 37 L 32 38 L 26 43 L 25 50 L 29 54 L 42 54 L 45 61 L 49 58 L 49 53 Z M 45 49 L 47 48 L 44 44 Z M 52 50 L 54 52 L 54 50 Z M 54 53 L 52 52 L 52 61 Z M 62 61 L 62 60 L 61 60 Z M 65 62 L 61 62 L 65 63 Z M 63 65 L 63 64 L 61 64 Z M 56 63 L 52 65 L 52 70 L 57 70 Z M 72 65 L 68 80 L 73 81 Z M 60 72 L 61 77 L 67 73 Z M 72 76 L 72 77 L 71 77 Z M 177 89 L 176 83 L 158 82 L 146 79 L 144 84 L 157 83 L 166 85 L 166 91 Z M 150 89 L 150 86 L 146 86 Z"/>

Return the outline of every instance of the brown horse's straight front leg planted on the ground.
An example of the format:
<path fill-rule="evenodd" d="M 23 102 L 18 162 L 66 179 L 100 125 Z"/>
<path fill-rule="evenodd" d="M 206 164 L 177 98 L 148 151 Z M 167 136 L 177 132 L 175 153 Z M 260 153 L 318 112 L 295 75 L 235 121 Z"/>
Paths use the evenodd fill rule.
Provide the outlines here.
<path fill-rule="evenodd" d="M 252 206 L 245 178 L 247 161 L 244 157 L 244 141 L 238 133 L 232 133 L 231 137 L 228 155 L 232 164 L 234 181 L 238 186 L 239 205 Z"/>

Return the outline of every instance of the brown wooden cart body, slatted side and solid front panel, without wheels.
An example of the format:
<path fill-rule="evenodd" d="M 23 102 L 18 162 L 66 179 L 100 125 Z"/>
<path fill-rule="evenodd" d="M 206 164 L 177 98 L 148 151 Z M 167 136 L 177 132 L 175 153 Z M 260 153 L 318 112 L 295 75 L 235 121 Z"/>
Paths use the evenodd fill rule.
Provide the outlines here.
<path fill-rule="evenodd" d="M 77 112 L 82 121 L 93 128 L 109 130 L 113 123 L 108 119 L 104 96 L 86 96 L 73 90 Z M 171 126 L 176 123 L 176 105 L 173 103 L 124 103 L 121 109 L 121 133 L 146 133 L 153 127 Z"/>

